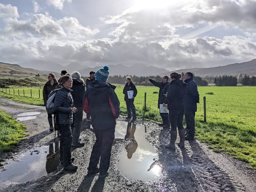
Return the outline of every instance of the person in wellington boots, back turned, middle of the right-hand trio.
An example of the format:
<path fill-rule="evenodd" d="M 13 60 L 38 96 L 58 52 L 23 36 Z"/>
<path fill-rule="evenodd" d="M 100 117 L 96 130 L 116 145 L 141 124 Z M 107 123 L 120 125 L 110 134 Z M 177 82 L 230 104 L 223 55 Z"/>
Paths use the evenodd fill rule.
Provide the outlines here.
<path fill-rule="evenodd" d="M 177 126 L 180 136 L 180 142 L 178 146 L 184 148 L 185 142 L 185 130 L 182 125 L 183 116 L 185 113 L 185 90 L 186 83 L 184 83 L 180 77 L 179 73 L 173 72 L 170 74 L 170 86 L 168 89 L 167 97 L 164 103 L 168 104 L 167 109 L 169 110 L 169 120 L 170 120 L 170 143 L 165 145 L 166 148 L 175 150 L 175 141 L 177 139 Z"/>

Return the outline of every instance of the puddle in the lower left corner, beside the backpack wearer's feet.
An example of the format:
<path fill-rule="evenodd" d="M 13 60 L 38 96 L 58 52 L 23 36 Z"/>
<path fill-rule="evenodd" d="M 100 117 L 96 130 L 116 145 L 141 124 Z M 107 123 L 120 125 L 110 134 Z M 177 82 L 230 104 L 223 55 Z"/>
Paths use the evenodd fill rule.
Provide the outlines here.
<path fill-rule="evenodd" d="M 59 164 L 59 143 L 37 147 L 9 160 L 0 173 L 0 184 L 32 181 L 53 172 Z"/>

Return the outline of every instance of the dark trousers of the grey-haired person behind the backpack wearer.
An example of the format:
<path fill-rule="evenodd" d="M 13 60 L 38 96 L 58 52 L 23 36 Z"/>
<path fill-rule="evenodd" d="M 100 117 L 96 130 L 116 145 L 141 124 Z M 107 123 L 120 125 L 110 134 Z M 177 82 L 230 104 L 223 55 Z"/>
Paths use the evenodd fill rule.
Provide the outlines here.
<path fill-rule="evenodd" d="M 77 112 L 73 113 L 73 124 L 71 126 L 72 136 L 73 136 L 73 140 L 72 140 L 73 145 L 76 145 L 79 142 L 81 126 L 82 126 L 82 115 L 83 115 L 82 108 L 77 107 Z"/>

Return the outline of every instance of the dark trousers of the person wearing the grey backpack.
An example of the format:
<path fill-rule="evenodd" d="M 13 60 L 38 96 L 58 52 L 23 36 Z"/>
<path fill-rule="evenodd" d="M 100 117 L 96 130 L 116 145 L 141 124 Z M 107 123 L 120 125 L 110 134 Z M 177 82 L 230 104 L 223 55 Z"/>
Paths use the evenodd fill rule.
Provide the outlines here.
<path fill-rule="evenodd" d="M 72 132 L 70 124 L 59 124 L 60 132 L 60 161 L 66 167 L 71 164 Z"/>

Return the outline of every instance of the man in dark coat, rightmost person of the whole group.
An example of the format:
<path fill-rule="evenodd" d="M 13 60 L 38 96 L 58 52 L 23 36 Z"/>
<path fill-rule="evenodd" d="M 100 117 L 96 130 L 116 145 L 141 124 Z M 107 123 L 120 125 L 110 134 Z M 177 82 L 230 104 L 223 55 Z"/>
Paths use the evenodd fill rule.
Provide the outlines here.
<path fill-rule="evenodd" d="M 193 73 L 186 72 L 184 74 L 184 82 L 187 83 L 185 93 L 185 120 L 187 136 L 185 140 L 195 140 L 195 114 L 197 111 L 197 103 L 199 103 L 199 93 L 197 84 L 193 79 Z"/>

